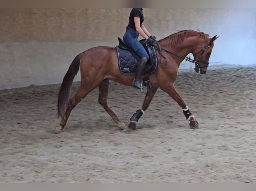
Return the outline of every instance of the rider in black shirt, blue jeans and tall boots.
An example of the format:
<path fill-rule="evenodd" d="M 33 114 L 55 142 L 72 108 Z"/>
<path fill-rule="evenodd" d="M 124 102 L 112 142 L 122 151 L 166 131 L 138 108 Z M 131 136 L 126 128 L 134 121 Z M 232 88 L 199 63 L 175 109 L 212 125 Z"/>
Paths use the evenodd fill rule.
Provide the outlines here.
<path fill-rule="evenodd" d="M 126 27 L 126 32 L 124 34 L 124 42 L 140 57 L 138 66 L 136 69 L 136 76 L 132 83 L 133 88 L 147 89 L 145 86 L 141 87 L 141 75 L 144 67 L 149 59 L 149 55 L 138 41 L 139 34 L 147 40 L 149 45 L 152 45 L 156 41 L 146 27 L 143 25 L 144 16 L 142 12 L 143 8 L 133 8 L 130 12 L 129 24 Z"/>

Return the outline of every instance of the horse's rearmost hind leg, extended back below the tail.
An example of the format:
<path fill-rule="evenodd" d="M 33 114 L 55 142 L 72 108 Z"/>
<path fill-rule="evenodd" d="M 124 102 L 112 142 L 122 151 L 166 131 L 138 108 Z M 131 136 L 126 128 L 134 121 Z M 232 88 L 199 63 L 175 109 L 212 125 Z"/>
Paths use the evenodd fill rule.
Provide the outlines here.
<path fill-rule="evenodd" d="M 56 133 L 62 132 L 63 128 L 66 126 L 68 118 L 70 116 L 71 111 L 74 109 L 74 107 L 82 101 L 86 95 L 88 95 L 94 88 L 81 86 L 78 92 L 70 99 L 70 103 L 67 107 L 67 110 L 65 114 L 63 115 L 61 121 L 60 121 L 60 127 L 56 128 Z"/>

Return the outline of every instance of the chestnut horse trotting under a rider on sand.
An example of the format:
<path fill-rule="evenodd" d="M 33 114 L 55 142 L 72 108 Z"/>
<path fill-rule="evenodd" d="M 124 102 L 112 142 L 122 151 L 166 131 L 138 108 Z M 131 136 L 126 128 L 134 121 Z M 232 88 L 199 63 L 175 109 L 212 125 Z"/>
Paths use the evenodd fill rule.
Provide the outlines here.
<path fill-rule="evenodd" d="M 191 128 L 198 127 L 199 123 L 189 111 L 173 83 L 177 78 L 178 68 L 184 59 L 195 64 L 196 72 L 207 73 L 210 55 L 217 38 L 217 35 L 210 38 L 208 34 L 200 31 L 183 30 L 154 43 L 159 65 L 156 71 L 149 76 L 152 88 L 147 90 L 141 109 L 132 116 L 128 125 L 129 128 L 136 129 L 136 122 L 148 108 L 158 88 L 170 95 L 179 104 Z M 156 44 L 160 46 L 156 46 Z M 194 60 L 186 57 L 189 53 L 193 54 Z M 70 98 L 71 86 L 79 69 L 81 70 L 81 86 L 78 92 Z M 60 127 L 56 128 L 56 133 L 62 132 L 72 109 L 97 87 L 99 87 L 99 103 L 113 118 L 120 130 L 126 129 L 126 125 L 108 106 L 110 80 L 126 86 L 131 86 L 134 80 L 133 75 L 121 74 L 114 47 L 94 47 L 77 55 L 59 89 L 57 108 L 58 116 L 61 116 L 62 119 Z"/>

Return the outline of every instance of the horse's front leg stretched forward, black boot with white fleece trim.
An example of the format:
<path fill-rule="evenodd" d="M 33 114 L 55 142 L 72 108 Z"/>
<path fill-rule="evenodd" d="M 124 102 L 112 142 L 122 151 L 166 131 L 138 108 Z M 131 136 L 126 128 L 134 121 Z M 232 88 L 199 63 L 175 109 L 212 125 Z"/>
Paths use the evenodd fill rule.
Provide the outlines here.
<path fill-rule="evenodd" d="M 195 129 L 199 126 L 199 123 L 195 119 L 195 116 L 192 115 L 192 113 L 189 111 L 188 106 L 185 104 L 184 100 L 181 98 L 181 96 L 176 91 L 173 83 L 168 83 L 160 86 L 160 89 L 169 94 L 182 108 L 182 111 L 186 117 L 186 120 L 189 121 L 189 126 L 192 129 Z"/>

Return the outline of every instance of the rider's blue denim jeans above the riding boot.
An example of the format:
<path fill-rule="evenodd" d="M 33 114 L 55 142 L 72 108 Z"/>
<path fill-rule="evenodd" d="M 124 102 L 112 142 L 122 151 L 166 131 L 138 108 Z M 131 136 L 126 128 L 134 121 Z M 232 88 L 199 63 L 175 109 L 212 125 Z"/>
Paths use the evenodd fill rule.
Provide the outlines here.
<path fill-rule="evenodd" d="M 124 42 L 137 54 L 140 58 L 146 57 L 149 60 L 149 56 L 145 48 L 138 41 L 139 33 L 130 28 L 126 27 L 126 32 L 124 34 L 123 40 Z"/>

